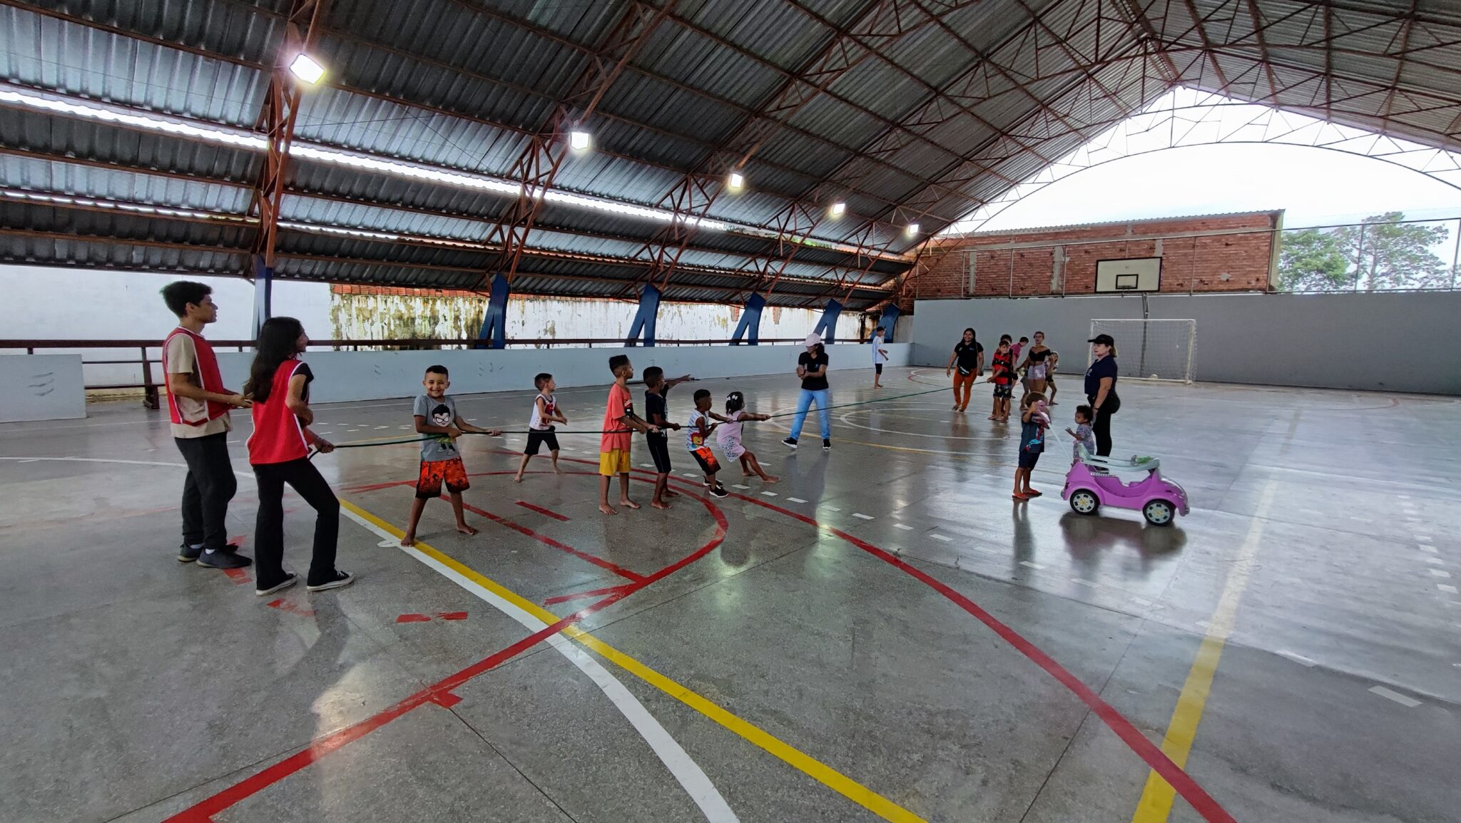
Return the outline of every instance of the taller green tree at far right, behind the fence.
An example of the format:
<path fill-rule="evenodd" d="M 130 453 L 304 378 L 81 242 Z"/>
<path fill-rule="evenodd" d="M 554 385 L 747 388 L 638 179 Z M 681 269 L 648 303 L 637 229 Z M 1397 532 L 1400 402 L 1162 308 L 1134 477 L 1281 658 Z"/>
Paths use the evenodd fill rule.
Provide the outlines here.
<path fill-rule="evenodd" d="M 1365 218 L 1362 225 L 1334 231 L 1344 256 L 1354 268 L 1359 288 L 1436 288 L 1448 282 L 1449 269 L 1430 247 L 1445 243 L 1442 225 L 1407 224 L 1403 212 Z"/>

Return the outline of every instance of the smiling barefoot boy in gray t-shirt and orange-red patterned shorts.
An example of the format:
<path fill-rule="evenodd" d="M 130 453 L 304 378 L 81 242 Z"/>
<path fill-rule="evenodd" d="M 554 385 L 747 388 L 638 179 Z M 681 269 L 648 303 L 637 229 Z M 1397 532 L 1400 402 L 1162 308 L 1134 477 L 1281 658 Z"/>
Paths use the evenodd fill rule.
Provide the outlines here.
<path fill-rule="evenodd" d="M 421 382 L 427 393 L 416 398 L 411 412 L 416 421 L 416 431 L 425 434 L 421 441 L 421 475 L 416 478 L 416 498 L 411 503 L 411 522 L 406 525 L 406 536 L 400 538 L 400 545 L 416 544 L 416 523 L 421 512 L 427 507 L 427 500 L 441 497 L 441 484 L 446 482 L 451 496 L 451 512 L 457 519 L 457 531 L 465 535 L 475 535 L 476 529 L 466 525 L 462 513 L 462 493 L 472 485 L 466 481 L 466 466 L 462 465 L 462 452 L 456 447 L 456 439 L 466 434 L 500 436 L 498 428 L 478 428 L 462 420 L 456 411 L 456 402 L 447 396 L 451 382 L 447 380 L 446 365 L 431 365 L 427 368 L 427 379 Z"/>

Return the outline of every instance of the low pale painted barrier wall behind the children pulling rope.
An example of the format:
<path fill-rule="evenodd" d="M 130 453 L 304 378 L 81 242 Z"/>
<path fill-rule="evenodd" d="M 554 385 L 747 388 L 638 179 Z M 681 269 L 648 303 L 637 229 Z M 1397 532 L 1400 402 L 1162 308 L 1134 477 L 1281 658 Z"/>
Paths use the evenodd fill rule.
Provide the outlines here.
<path fill-rule="evenodd" d="M 890 365 L 907 365 L 912 344 L 885 344 Z M 441 364 L 451 373 L 451 393 L 530 392 L 533 376 L 548 371 L 561 389 L 603 386 L 614 380 L 609 357 L 627 354 L 636 376 L 659 365 L 665 374 L 700 379 L 785 373 L 796 386 L 796 357 L 801 346 L 655 346 L 655 348 L 554 348 L 554 349 L 450 349 L 450 351 L 321 351 L 305 355 L 316 380 L 314 402 L 375 401 L 421 393 L 428 365 Z M 872 346 L 827 348 L 830 371 L 872 370 Z M 250 354 L 221 352 L 224 382 L 240 389 L 248 376 Z M 833 390 L 837 374 L 830 376 Z"/>

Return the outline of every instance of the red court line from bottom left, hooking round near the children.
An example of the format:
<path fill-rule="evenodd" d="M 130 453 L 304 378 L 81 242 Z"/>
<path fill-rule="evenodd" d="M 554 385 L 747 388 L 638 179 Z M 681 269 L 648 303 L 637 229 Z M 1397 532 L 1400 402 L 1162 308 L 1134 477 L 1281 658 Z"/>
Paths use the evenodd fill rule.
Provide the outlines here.
<path fill-rule="evenodd" d="M 482 474 L 516 474 L 516 472 L 508 471 L 508 472 L 482 472 Z M 598 472 L 565 472 L 565 474 L 598 477 Z M 634 479 L 640 482 L 655 482 L 653 479 L 640 477 L 636 477 Z M 386 484 L 386 485 L 402 485 L 402 484 Z M 384 488 L 384 485 L 381 488 Z M 422 689 L 421 691 L 416 691 L 415 694 L 394 703 L 393 706 L 390 706 L 383 712 L 378 712 L 356 724 L 348 725 L 339 731 L 330 732 L 326 737 L 311 743 L 308 748 L 297 754 L 292 754 L 289 757 L 285 757 L 283 760 L 248 778 L 244 778 L 243 781 L 234 784 L 232 786 L 228 786 L 226 789 L 212 797 L 207 797 L 188 808 L 184 808 L 183 811 L 174 814 L 172 817 L 168 817 L 162 823 L 213 823 L 212 820 L 213 814 L 218 814 L 241 803 L 243 800 L 247 800 L 248 797 L 259 794 L 260 791 L 272 786 L 273 784 L 278 784 L 279 781 L 288 778 L 289 775 L 294 775 L 295 772 L 304 769 L 305 766 L 310 766 L 311 763 L 320 760 L 321 757 L 333 751 L 337 751 L 339 748 L 365 737 L 367 734 L 394 721 L 396 718 L 400 718 L 402 715 L 411 712 L 412 709 L 421 708 L 427 703 L 434 703 L 443 708 L 451 708 L 459 702 L 462 702 L 460 697 L 451 694 L 453 689 L 465 684 L 466 681 L 475 678 L 479 674 L 491 671 L 492 668 L 510 661 L 519 653 L 536 646 L 539 642 L 551 637 L 552 634 L 557 634 L 558 632 L 562 632 L 570 624 L 579 623 L 584 617 L 589 617 L 590 614 L 602 608 L 614 605 L 615 602 L 624 599 L 625 596 L 649 586 L 655 580 L 660 580 L 666 574 L 684 569 L 690 563 L 694 563 L 695 560 L 700 560 L 706 554 L 710 554 L 712 551 L 716 550 L 716 547 L 725 542 L 726 529 L 729 528 L 729 520 L 726 520 L 725 513 L 720 512 L 720 509 L 709 498 L 695 494 L 691 494 L 690 497 L 700 500 L 700 503 L 704 504 L 704 507 L 710 512 L 710 515 L 716 520 L 716 534 L 695 551 L 687 554 L 685 557 L 676 560 L 675 563 L 671 563 L 669 566 L 660 569 L 659 572 L 650 574 L 649 577 L 641 577 L 634 583 L 627 583 L 624 586 L 622 593 L 609 595 L 586 608 L 581 608 L 570 614 L 568 617 L 558 620 L 552 626 L 545 626 L 543 629 L 533 632 L 532 634 L 523 637 L 522 640 L 513 643 L 511 646 L 507 646 L 506 649 L 494 655 L 482 658 L 481 661 L 463 668 L 462 671 L 451 674 L 434 683 L 432 686 Z M 447 614 L 457 614 L 457 612 L 447 612 Z M 446 617 L 446 614 L 443 614 L 441 617 Z"/>

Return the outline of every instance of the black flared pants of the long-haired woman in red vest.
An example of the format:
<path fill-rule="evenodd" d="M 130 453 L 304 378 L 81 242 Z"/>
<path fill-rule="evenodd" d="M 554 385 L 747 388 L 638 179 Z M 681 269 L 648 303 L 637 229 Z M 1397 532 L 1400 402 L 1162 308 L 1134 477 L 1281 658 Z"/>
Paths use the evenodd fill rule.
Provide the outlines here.
<path fill-rule="evenodd" d="M 314 507 L 314 557 L 311 586 L 335 576 L 335 544 L 340 538 L 340 501 L 314 463 L 301 458 L 288 463 L 254 466 L 259 481 L 259 520 L 254 525 L 254 586 L 272 589 L 283 582 L 283 484 Z"/>

